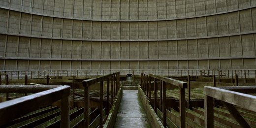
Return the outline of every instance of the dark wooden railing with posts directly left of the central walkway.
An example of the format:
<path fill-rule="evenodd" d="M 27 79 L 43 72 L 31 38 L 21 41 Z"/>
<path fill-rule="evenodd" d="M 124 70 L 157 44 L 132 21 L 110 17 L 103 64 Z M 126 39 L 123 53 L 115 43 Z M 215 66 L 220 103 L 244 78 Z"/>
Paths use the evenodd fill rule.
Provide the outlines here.
<path fill-rule="evenodd" d="M 94 85 L 97 82 L 100 82 L 100 105 L 99 105 L 99 128 L 103 127 L 103 81 L 107 81 L 107 113 L 109 113 L 109 95 L 110 95 L 110 91 L 109 91 L 109 83 L 111 80 L 111 104 L 113 105 L 113 98 L 117 95 L 118 90 L 120 88 L 120 84 L 119 84 L 119 79 L 120 79 L 120 72 L 116 72 L 116 73 L 112 73 L 112 74 L 108 74 L 108 75 L 104 75 L 101 77 L 97 77 L 97 78 L 92 78 L 92 79 L 88 79 L 88 80 L 84 80 L 83 81 L 83 86 L 84 86 L 84 128 L 89 128 L 90 126 L 90 120 L 89 120 L 89 114 L 90 114 L 90 90 L 89 87 L 91 85 Z"/>

